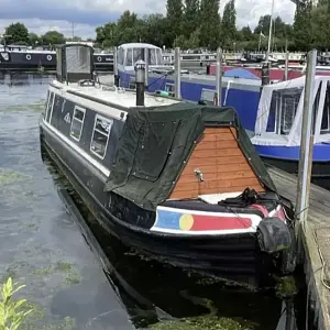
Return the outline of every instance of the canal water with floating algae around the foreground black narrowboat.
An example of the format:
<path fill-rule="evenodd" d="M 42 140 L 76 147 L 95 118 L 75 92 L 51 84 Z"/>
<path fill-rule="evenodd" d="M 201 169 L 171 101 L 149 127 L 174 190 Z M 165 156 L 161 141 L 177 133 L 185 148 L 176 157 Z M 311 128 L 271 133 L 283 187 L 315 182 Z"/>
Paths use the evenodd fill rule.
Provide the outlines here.
<path fill-rule="evenodd" d="M 0 283 L 11 276 L 26 285 L 16 297 L 34 311 L 21 329 L 285 329 L 275 292 L 197 279 L 141 257 L 106 234 L 72 191 L 111 267 L 100 265 L 57 194 L 70 186 L 41 158 L 38 119 L 53 78 L 0 76 Z M 290 310 L 299 330 L 301 293 L 302 307 Z"/>

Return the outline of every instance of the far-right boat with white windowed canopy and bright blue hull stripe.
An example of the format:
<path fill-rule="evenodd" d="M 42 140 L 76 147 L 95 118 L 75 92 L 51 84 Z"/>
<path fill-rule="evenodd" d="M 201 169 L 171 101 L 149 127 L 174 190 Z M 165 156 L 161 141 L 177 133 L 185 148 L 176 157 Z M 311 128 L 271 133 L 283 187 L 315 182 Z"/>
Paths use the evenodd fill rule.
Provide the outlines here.
<path fill-rule="evenodd" d="M 330 189 L 330 77 L 314 84 L 311 179 Z M 263 88 L 252 143 L 266 164 L 297 174 L 306 77 Z"/>

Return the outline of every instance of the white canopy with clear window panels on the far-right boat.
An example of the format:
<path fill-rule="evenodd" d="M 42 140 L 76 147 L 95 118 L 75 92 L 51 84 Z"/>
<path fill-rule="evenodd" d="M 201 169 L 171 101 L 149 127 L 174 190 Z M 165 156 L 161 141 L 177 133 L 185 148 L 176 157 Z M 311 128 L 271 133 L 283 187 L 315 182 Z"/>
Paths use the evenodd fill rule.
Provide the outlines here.
<path fill-rule="evenodd" d="M 330 142 L 330 77 L 316 76 L 312 90 L 314 143 Z M 300 145 L 306 76 L 263 88 L 254 144 Z"/>

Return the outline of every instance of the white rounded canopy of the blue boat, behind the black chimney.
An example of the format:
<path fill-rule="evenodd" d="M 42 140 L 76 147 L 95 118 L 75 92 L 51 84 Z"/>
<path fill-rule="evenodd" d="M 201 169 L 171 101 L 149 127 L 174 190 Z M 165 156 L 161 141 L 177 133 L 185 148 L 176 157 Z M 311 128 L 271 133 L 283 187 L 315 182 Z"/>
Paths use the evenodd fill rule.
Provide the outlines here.
<path fill-rule="evenodd" d="M 163 65 L 162 50 L 152 44 L 129 43 L 118 47 L 118 65 L 128 70 L 133 69 L 139 59 L 144 59 L 144 52 L 147 50 L 148 65 Z"/>

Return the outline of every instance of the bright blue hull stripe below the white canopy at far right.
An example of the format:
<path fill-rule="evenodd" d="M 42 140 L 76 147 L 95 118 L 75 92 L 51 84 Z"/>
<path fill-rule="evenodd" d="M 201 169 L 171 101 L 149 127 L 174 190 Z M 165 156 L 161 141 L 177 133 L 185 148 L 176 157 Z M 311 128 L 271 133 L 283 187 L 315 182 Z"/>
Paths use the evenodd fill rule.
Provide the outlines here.
<path fill-rule="evenodd" d="M 299 161 L 299 146 L 254 145 L 257 153 L 266 158 Z M 330 144 L 316 144 L 312 154 L 314 162 L 330 161 Z"/>

